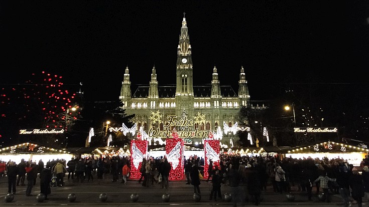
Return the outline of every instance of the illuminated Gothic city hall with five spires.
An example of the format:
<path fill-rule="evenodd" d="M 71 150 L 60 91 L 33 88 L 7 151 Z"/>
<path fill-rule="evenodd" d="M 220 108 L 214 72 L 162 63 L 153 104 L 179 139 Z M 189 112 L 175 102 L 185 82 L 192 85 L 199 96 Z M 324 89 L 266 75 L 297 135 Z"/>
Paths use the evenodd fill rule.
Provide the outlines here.
<path fill-rule="evenodd" d="M 191 55 L 186 18 L 183 17 L 177 48 L 176 85 L 159 86 L 154 66 L 149 85 L 138 86 L 132 94 L 127 67 L 119 99 L 124 103 L 128 115 L 136 115 L 133 121 L 138 129 L 143 127 L 144 131 L 151 136 L 165 140 L 165 138 L 171 138 L 170 133 L 167 132 L 172 132 L 176 128 L 180 137 L 185 138 L 185 143 L 200 144 L 210 131 L 218 136 L 216 133 L 219 133 L 217 128 L 220 126 L 223 133 L 221 144 L 229 146 L 233 142 L 236 146 L 237 134 L 231 132 L 224 134 L 223 122 L 228 127 L 232 127 L 237 122 L 237 114 L 241 106 L 253 107 L 250 103 L 244 69 L 240 67 L 238 93 L 229 85 L 220 85 L 216 67 L 212 70 L 211 84 L 196 85 L 193 83 Z M 258 107 L 259 105 L 255 106 L 255 108 Z M 178 120 L 181 119 L 183 121 L 179 122 Z M 173 124 L 175 120 L 177 122 Z"/>

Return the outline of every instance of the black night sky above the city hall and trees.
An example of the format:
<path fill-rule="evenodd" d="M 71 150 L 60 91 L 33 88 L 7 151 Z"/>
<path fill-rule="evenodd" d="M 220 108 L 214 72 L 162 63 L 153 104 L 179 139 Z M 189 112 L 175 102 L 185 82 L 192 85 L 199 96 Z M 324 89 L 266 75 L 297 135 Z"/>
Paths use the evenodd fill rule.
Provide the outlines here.
<path fill-rule="evenodd" d="M 245 69 L 252 100 L 296 86 L 344 100 L 367 96 L 368 1 L 0 1 L 0 84 L 46 71 L 83 83 L 86 100 L 117 100 L 131 82 L 174 84 L 186 13 L 195 84 Z M 134 88 L 134 87 L 133 87 Z M 340 90 L 344 90 L 340 91 Z M 352 91 L 351 91 L 352 90 Z M 367 100 L 367 99 L 366 99 Z"/>

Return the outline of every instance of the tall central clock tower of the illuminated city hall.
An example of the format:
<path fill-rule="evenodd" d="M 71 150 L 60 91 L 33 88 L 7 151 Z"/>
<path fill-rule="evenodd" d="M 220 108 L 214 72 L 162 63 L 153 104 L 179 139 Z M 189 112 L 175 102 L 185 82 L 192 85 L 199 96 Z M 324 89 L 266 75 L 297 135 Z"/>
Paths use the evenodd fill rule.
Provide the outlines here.
<path fill-rule="evenodd" d="M 177 48 L 176 107 L 178 111 L 182 111 L 183 109 L 192 111 L 190 109 L 193 108 L 194 94 L 191 55 L 190 37 L 188 36 L 185 13 L 183 13 L 181 34 Z"/>

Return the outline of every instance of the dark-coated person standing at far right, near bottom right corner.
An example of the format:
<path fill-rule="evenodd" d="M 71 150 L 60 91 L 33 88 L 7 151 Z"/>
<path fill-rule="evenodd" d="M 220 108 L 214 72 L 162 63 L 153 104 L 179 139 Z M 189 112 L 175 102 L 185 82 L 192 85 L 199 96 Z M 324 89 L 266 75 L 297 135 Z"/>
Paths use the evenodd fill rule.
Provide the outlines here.
<path fill-rule="evenodd" d="M 362 198 L 364 196 L 364 184 L 362 182 L 362 175 L 359 174 L 356 167 L 352 168 L 352 174 L 348 178 L 350 187 L 352 189 L 351 196 L 356 200 L 358 207 L 362 206 Z"/>

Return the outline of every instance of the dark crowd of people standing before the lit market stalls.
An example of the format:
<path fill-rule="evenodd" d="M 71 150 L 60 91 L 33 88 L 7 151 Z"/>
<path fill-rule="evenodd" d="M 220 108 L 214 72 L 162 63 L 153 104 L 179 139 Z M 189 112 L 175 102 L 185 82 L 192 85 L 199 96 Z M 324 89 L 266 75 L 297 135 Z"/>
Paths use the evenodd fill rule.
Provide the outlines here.
<path fill-rule="evenodd" d="M 204 181 L 211 182 L 209 199 L 221 199 L 221 186 L 229 185 L 232 190 L 234 206 L 237 202 L 252 200 L 260 203 L 260 195 L 271 184 L 276 193 L 290 192 L 291 186 L 306 191 L 307 199 L 312 199 L 312 189 L 323 192 L 326 201 L 331 201 L 331 194 L 340 194 L 345 207 L 349 206 L 349 196 L 356 200 L 359 207 L 362 197 L 369 200 L 369 158 L 366 155 L 360 166 L 354 167 L 342 158 L 291 158 L 281 159 L 275 156 L 239 156 L 221 155 L 216 162 L 209 160 L 209 167 L 204 169 L 204 159 L 197 155 L 184 157 L 184 176 L 186 184 L 193 185 L 194 193 L 201 193 L 200 184 L 204 170 L 209 176 Z M 360 170 L 358 170 L 358 168 Z M 112 177 L 111 182 L 121 180 L 127 183 L 131 169 L 130 156 L 106 156 L 101 158 L 85 157 L 71 160 L 49 160 L 46 165 L 42 160 L 36 164 L 32 160 L 0 162 L 0 175 L 7 172 L 8 193 L 16 193 L 16 186 L 25 185 L 26 195 L 32 196 L 33 185 L 40 178 L 41 193 L 51 193 L 50 183 L 55 179 L 56 186 L 64 185 L 64 176 L 74 182 L 89 182 Z M 144 158 L 141 163 L 141 177 L 138 182 L 150 187 L 159 183 L 161 188 L 169 187 L 171 164 L 166 156 Z M 361 173 L 359 173 L 361 171 Z M 199 176 L 199 173 L 202 176 Z M 39 175 L 39 176 L 38 176 Z M 243 197 L 244 200 L 238 200 Z"/>

